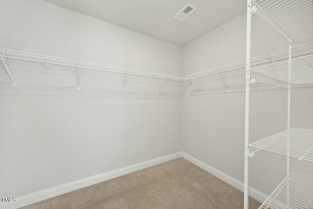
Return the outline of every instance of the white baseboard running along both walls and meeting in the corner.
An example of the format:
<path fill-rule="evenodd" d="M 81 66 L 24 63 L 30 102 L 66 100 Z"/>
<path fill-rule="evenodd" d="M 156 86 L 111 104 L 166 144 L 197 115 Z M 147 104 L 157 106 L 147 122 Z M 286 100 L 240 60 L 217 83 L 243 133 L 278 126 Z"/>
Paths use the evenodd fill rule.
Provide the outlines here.
<path fill-rule="evenodd" d="M 17 197 L 17 201 L 16 202 L 9 202 L 9 203 L 0 203 L 0 209 L 17 209 L 17 208 L 21 208 L 23 206 L 27 206 L 33 203 L 37 203 L 40 201 L 43 201 L 45 199 L 49 199 L 61 194 L 65 194 L 67 192 L 71 192 L 80 188 L 84 188 L 86 186 L 91 186 L 94 184 L 98 184 L 100 182 L 104 182 L 122 175 L 126 175 L 147 167 L 151 167 L 153 165 L 157 165 L 160 163 L 164 163 L 170 160 L 174 160 L 177 158 L 184 158 L 187 161 L 189 161 L 190 163 L 193 163 L 197 166 L 199 166 L 200 168 L 202 168 L 203 170 L 211 173 L 212 175 L 216 176 L 217 178 L 221 179 L 222 181 L 226 182 L 227 184 L 239 189 L 240 191 L 244 191 L 244 183 L 238 181 L 237 179 L 234 179 L 231 176 L 228 176 L 227 174 L 215 169 L 214 167 L 203 163 L 202 161 L 184 153 L 184 152 L 177 152 L 177 153 L 173 153 L 170 155 L 166 155 L 166 156 L 162 156 L 159 158 L 155 158 L 149 161 L 145 161 L 142 163 L 136 163 L 134 165 L 130 165 L 130 166 L 126 166 L 123 168 L 119 168 L 119 169 L 115 169 L 106 173 L 102 173 L 102 174 L 98 174 L 95 176 L 91 176 L 88 178 L 84 178 L 81 180 L 77 180 L 74 182 L 70 182 L 64 185 L 60 185 L 60 186 L 55 186 L 55 187 L 51 187 L 51 188 L 47 188 L 41 191 L 37 191 L 37 192 L 33 192 L 27 195 L 23 195 L 20 197 Z M 266 198 L 267 195 L 250 187 L 249 188 L 249 196 L 260 201 L 263 202 Z"/>

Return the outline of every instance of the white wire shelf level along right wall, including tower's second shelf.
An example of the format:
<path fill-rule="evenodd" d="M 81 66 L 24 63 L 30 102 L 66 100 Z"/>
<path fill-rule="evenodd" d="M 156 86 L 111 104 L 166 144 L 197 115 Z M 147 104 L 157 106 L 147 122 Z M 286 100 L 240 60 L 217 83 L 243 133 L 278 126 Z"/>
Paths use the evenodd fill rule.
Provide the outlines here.
<path fill-rule="evenodd" d="M 313 43 L 296 46 L 292 49 L 291 83 L 288 81 L 289 50 L 281 50 L 251 59 L 251 78 L 257 83 L 290 89 L 294 84 L 313 83 L 313 69 L 310 70 L 313 57 Z M 305 61 L 303 61 L 305 60 Z M 274 68 L 279 66 L 280 68 Z M 204 70 L 187 75 L 187 79 L 197 79 L 199 88 L 204 91 L 245 84 L 246 61 L 240 61 L 218 68 Z"/>

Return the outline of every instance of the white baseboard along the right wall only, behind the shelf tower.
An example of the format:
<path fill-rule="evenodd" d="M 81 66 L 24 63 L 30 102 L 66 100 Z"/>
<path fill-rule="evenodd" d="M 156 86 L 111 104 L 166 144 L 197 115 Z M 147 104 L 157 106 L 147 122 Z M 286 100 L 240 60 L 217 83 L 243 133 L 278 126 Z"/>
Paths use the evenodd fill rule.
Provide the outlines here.
<path fill-rule="evenodd" d="M 185 160 L 189 161 L 190 163 L 193 163 L 195 165 L 197 165 L 198 167 L 202 168 L 203 170 L 209 172 L 210 174 L 212 174 L 213 176 L 221 179 L 222 181 L 226 182 L 227 184 L 235 187 L 236 189 L 240 190 L 240 191 L 244 191 L 244 183 L 242 183 L 241 181 L 238 181 L 237 179 L 228 176 L 227 174 L 223 173 L 222 171 L 206 164 L 203 163 L 202 161 L 188 155 L 185 152 L 181 152 L 181 157 L 184 158 Z M 264 194 L 263 192 L 260 192 L 259 190 L 253 188 L 253 187 L 249 187 L 249 196 L 256 199 L 257 201 L 263 203 L 266 198 L 268 197 L 268 195 Z"/>

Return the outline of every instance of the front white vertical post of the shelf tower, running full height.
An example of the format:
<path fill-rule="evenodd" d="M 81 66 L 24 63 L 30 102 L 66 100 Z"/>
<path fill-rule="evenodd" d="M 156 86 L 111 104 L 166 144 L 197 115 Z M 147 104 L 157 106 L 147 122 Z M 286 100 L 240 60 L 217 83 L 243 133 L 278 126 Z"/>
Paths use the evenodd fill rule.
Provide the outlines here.
<path fill-rule="evenodd" d="M 250 96 L 250 44 L 251 44 L 251 0 L 247 0 L 246 11 L 246 102 L 245 102 L 245 186 L 244 209 L 249 208 L 249 96 Z"/>

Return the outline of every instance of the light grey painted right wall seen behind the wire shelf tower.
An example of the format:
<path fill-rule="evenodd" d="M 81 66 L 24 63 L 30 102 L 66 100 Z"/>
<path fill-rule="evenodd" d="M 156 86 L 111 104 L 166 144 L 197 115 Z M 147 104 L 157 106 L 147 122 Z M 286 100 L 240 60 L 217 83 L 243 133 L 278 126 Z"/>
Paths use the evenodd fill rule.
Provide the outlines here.
<path fill-rule="evenodd" d="M 286 48 L 288 44 L 278 34 L 252 16 L 252 57 Z M 245 59 L 246 13 L 184 46 L 183 74 Z M 286 130 L 287 91 L 251 90 L 250 141 Z M 291 126 L 312 129 L 313 86 L 298 87 L 291 103 Z M 197 96 L 188 92 L 182 100 L 182 120 L 182 151 L 243 182 L 245 89 Z M 313 174 L 310 163 L 292 159 L 291 168 Z M 250 159 L 249 171 L 250 186 L 269 194 L 286 176 L 286 157 L 260 151 Z"/>

